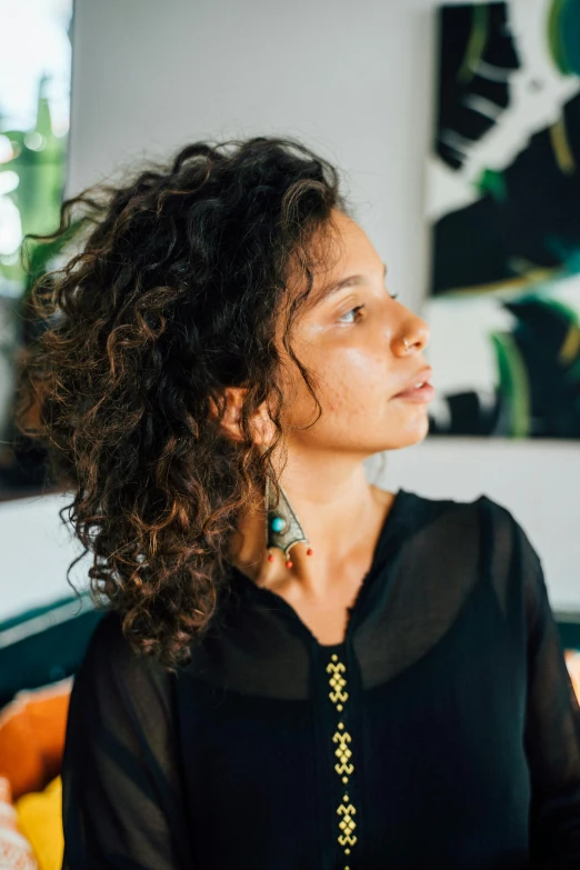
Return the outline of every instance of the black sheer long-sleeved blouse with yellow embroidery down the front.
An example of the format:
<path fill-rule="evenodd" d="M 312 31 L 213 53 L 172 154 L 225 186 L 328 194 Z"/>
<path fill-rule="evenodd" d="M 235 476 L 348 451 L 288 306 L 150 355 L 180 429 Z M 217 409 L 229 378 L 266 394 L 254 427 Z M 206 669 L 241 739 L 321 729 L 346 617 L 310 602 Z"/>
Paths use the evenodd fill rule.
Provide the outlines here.
<path fill-rule="evenodd" d="M 580 711 L 509 510 L 399 490 L 340 644 L 230 589 L 176 674 L 97 627 L 63 868 L 580 868 Z"/>

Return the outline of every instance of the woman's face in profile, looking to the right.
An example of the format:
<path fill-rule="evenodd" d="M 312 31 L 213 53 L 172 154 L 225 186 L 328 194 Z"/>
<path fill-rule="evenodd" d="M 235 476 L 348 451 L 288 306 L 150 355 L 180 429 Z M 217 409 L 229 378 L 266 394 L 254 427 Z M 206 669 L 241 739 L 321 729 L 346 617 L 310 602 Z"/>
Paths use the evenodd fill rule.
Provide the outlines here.
<path fill-rule="evenodd" d="M 339 244 L 332 269 L 316 274 L 291 337 L 294 353 L 314 376 L 322 416 L 310 429 L 293 428 L 310 423 L 316 406 L 283 351 L 290 367 L 284 390 L 288 443 L 364 458 L 413 444 L 429 431 L 430 399 L 394 398 L 409 383 L 430 377 L 422 358 L 429 328 L 389 294 L 384 264 L 363 230 L 340 211 L 334 219 Z M 323 292 L 351 276 L 356 278 L 347 286 Z"/>

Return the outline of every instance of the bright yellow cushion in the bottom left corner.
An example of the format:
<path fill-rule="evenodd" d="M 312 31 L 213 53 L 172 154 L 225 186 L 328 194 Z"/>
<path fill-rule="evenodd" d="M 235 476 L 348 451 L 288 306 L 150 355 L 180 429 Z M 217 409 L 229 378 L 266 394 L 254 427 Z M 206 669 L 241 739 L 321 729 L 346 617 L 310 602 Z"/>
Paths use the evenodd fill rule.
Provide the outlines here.
<path fill-rule="evenodd" d="M 31 791 L 16 801 L 18 827 L 32 847 L 40 870 L 61 870 L 62 781 L 53 779 L 44 791 Z"/>

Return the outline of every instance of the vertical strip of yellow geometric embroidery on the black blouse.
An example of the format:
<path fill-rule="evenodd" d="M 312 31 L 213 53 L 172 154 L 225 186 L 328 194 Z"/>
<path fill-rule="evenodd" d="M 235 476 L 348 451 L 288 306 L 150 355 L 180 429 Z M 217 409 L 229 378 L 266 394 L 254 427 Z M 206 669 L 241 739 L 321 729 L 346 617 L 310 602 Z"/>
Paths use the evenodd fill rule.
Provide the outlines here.
<path fill-rule="evenodd" d="M 331 656 L 331 661 L 327 664 L 327 673 L 330 674 L 329 682 L 331 688 L 329 698 L 339 713 L 344 709 L 344 702 L 349 697 L 348 692 L 344 691 L 347 687 L 346 672 L 346 666 L 343 662 L 339 661 L 338 656 L 333 653 Z M 350 749 L 352 738 L 344 729 L 344 722 L 338 723 L 337 731 L 332 736 L 332 742 L 337 744 L 334 756 L 338 760 L 334 764 L 334 770 L 340 777 L 340 781 L 346 786 L 349 781 L 349 777 L 351 777 L 354 771 L 354 764 L 352 764 L 350 760 L 352 757 L 352 751 Z M 337 814 L 339 817 L 338 841 L 344 850 L 344 856 L 350 854 L 351 847 L 357 842 L 357 837 L 354 834 L 357 823 L 353 819 L 356 813 L 357 810 L 350 802 L 348 791 L 344 791 L 342 800 L 337 809 Z M 344 870 L 349 870 L 349 867 L 344 867 Z"/>

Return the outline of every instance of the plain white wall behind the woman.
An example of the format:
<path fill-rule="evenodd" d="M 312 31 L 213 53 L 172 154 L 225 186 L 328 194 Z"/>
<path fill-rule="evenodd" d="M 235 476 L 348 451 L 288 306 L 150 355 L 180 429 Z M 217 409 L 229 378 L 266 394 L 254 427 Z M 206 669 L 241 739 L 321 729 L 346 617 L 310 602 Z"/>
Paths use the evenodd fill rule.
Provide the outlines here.
<path fill-rule="evenodd" d="M 342 169 L 391 289 L 419 310 L 433 8 L 432 0 L 76 0 L 67 193 L 188 140 L 297 136 Z M 500 501 L 542 558 L 552 607 L 580 610 L 579 472 L 577 442 L 428 439 L 390 453 L 382 482 Z M 3 568 L 29 597 L 68 590 L 66 566 L 78 550 L 61 540 L 57 502 L 0 506 Z"/>

